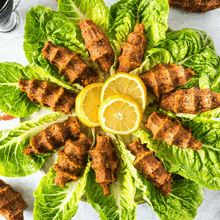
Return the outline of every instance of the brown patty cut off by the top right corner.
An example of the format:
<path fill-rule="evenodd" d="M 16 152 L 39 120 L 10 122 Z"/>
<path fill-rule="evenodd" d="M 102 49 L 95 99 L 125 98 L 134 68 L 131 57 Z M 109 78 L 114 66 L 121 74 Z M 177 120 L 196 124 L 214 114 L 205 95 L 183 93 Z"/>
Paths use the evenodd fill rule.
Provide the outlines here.
<path fill-rule="evenodd" d="M 171 8 L 183 8 L 187 12 L 204 13 L 220 8 L 220 0 L 169 0 Z"/>

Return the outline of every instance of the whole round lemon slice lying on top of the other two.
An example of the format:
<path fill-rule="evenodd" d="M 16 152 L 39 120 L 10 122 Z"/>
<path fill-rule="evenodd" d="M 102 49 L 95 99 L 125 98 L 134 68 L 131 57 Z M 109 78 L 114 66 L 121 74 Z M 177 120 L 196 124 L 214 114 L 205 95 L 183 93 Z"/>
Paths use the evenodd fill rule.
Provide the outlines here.
<path fill-rule="evenodd" d="M 140 127 L 142 109 L 129 96 L 109 96 L 99 108 L 102 129 L 113 134 L 130 134 Z"/>

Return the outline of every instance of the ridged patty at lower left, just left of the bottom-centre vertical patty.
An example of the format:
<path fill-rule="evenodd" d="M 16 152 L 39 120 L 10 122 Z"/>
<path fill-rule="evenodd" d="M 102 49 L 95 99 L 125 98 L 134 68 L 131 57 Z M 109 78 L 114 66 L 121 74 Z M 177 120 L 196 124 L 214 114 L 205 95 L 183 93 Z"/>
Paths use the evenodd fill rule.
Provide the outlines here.
<path fill-rule="evenodd" d="M 92 142 L 83 133 L 76 140 L 68 139 L 62 150 L 58 151 L 58 163 L 54 164 L 56 171 L 55 184 L 64 187 L 70 181 L 76 182 L 81 171 L 86 167 L 88 153 Z"/>

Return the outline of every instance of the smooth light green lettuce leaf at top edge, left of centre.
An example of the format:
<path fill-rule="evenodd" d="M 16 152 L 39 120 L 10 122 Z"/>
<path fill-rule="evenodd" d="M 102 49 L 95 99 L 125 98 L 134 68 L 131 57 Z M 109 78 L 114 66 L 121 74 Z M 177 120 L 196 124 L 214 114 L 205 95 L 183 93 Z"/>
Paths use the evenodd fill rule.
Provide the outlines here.
<path fill-rule="evenodd" d="M 108 32 L 109 8 L 103 0 L 60 0 L 58 11 L 74 24 L 82 19 L 92 19 L 105 33 Z"/>

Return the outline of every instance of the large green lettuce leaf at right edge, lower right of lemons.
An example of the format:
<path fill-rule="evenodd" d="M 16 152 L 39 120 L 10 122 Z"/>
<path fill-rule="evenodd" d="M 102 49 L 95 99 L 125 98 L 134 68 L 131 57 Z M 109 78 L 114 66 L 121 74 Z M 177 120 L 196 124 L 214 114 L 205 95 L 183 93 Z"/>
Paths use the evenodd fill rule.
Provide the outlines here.
<path fill-rule="evenodd" d="M 210 116 L 211 118 L 211 116 Z M 220 122 L 202 116 L 192 120 L 185 118 L 182 123 L 192 128 L 193 136 L 201 141 L 199 151 L 169 146 L 164 141 L 153 140 L 147 129 L 140 128 L 135 135 L 163 162 L 170 173 L 179 174 L 208 189 L 220 189 Z"/>

